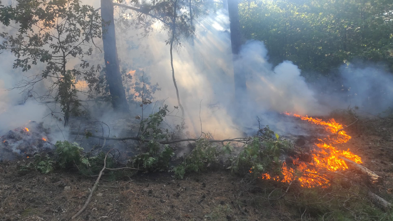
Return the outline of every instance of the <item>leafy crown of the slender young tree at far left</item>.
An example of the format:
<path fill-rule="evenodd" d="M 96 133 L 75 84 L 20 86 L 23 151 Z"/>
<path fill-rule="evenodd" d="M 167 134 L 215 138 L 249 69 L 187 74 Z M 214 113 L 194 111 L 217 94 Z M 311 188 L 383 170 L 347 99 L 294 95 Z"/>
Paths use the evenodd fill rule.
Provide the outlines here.
<path fill-rule="evenodd" d="M 78 0 L 18 0 L 12 17 L 10 8 L 1 9 L 0 21 L 9 24 L 12 19 L 19 28 L 15 35 L 0 33 L 4 39 L 0 49 L 15 55 L 14 68 L 28 71 L 32 65 L 46 65 L 32 80 L 23 81 L 23 87 L 34 96 L 34 85 L 50 78 L 53 83 L 42 99 L 59 102 L 67 124 L 70 115 L 79 114 L 77 76 L 95 70 L 84 57 L 92 55 L 92 39 L 101 37 L 100 16 L 92 6 L 81 5 Z M 79 60 L 79 64 L 70 66 L 70 59 Z"/>

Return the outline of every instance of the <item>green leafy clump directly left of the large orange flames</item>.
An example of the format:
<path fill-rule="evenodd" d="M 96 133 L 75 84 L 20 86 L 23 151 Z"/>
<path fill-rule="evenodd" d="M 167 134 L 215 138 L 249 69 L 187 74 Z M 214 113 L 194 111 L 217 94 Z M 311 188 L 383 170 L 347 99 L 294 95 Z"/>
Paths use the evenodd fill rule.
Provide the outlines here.
<path fill-rule="evenodd" d="M 231 170 L 240 175 L 248 172 L 255 177 L 266 172 L 280 175 L 282 161 L 279 157 L 291 147 L 288 140 L 281 139 L 267 126 L 244 146 L 239 156 L 232 158 Z"/>

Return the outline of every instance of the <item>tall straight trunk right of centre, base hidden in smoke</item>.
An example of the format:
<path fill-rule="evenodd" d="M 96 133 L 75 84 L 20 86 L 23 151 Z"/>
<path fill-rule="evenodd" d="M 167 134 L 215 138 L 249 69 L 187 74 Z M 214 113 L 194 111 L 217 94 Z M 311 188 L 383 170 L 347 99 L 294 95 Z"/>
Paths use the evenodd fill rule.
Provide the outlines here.
<path fill-rule="evenodd" d="M 228 15 L 231 30 L 233 61 L 235 62 L 239 58 L 240 46 L 242 45 L 238 0 L 228 0 Z M 240 63 L 234 63 L 233 72 L 235 80 L 235 98 L 240 99 L 246 92 L 246 77 L 244 76 L 244 69 L 241 67 Z"/>

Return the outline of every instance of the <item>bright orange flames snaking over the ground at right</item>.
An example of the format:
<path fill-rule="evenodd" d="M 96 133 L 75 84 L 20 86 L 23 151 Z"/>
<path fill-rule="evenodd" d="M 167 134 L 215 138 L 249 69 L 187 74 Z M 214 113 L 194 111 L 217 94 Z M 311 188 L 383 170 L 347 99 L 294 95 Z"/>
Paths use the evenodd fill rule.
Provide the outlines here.
<path fill-rule="evenodd" d="M 292 115 L 285 113 L 286 115 Z M 301 120 L 308 121 L 309 123 L 321 125 L 326 131 L 332 133 L 327 138 L 318 139 L 312 151 L 312 162 L 306 163 L 295 159 L 293 164 L 296 165 L 296 169 L 291 168 L 286 162 L 283 163 L 282 173 L 283 176 L 272 177 L 268 173 L 262 175 L 263 179 L 273 179 L 281 182 L 291 183 L 294 180 L 298 180 L 301 186 L 314 187 L 314 186 L 328 186 L 328 180 L 324 178 L 329 172 L 346 170 L 348 166 L 345 159 L 352 160 L 356 163 L 362 163 L 362 159 L 349 151 L 341 151 L 336 149 L 333 145 L 343 144 L 351 139 L 351 136 L 347 135 L 343 131 L 343 125 L 337 123 L 334 119 L 330 119 L 329 122 L 325 122 L 318 118 L 312 118 L 309 116 L 300 116 L 293 114 L 292 116 L 300 118 Z"/>

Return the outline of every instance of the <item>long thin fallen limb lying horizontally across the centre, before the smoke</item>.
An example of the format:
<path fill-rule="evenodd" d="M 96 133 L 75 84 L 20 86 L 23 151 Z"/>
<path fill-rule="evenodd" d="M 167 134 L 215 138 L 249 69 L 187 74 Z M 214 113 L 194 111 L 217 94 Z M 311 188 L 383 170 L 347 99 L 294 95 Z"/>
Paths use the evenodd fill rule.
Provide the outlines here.
<path fill-rule="evenodd" d="M 83 135 L 78 132 L 70 132 L 72 135 Z M 97 136 L 97 135 L 89 135 L 88 137 L 94 137 L 98 139 L 106 139 L 106 140 L 118 140 L 118 141 L 123 141 L 123 140 L 137 140 L 137 141 L 143 141 L 143 142 L 149 142 L 151 140 L 142 140 L 138 136 L 129 136 L 129 137 L 104 137 L 104 136 Z M 225 140 L 208 140 L 209 143 L 224 143 L 224 142 L 241 142 L 241 143 L 246 143 L 248 138 L 233 138 L 233 139 L 225 139 Z M 187 139 L 180 139 L 180 140 L 168 140 L 168 141 L 158 141 L 160 144 L 174 144 L 174 143 L 179 143 L 179 142 L 185 142 L 185 141 L 193 141 L 196 142 L 198 139 L 195 138 L 187 138 Z"/>

